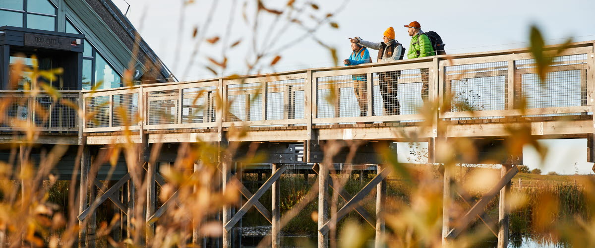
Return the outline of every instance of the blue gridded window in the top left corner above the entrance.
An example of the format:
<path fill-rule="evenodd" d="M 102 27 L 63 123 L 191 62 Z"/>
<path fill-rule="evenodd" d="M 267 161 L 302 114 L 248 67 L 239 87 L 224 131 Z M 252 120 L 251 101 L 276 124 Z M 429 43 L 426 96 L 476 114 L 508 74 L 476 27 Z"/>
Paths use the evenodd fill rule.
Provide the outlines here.
<path fill-rule="evenodd" d="M 0 26 L 56 31 L 57 12 L 50 0 L 1 0 Z"/>

